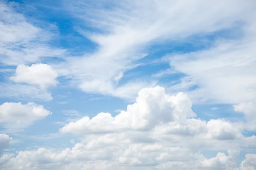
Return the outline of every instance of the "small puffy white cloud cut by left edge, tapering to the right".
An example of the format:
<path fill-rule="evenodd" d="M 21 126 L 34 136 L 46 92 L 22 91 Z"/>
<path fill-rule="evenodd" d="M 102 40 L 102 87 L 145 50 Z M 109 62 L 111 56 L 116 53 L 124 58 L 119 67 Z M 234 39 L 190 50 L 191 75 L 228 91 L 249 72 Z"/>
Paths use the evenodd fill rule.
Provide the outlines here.
<path fill-rule="evenodd" d="M 0 105 L 0 123 L 9 130 L 20 130 L 28 127 L 38 119 L 52 114 L 42 105 L 29 102 L 26 105 L 12 102 L 5 102 Z"/>

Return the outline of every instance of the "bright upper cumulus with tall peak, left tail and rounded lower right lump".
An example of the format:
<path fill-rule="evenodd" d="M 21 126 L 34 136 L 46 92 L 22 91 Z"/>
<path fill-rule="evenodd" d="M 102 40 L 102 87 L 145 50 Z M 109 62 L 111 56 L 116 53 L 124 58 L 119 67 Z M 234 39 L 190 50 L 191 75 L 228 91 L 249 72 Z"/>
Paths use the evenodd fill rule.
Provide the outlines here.
<path fill-rule="evenodd" d="M 205 122 L 194 119 L 195 116 L 188 96 L 183 93 L 169 96 L 164 88 L 157 86 L 141 90 L 136 102 L 128 105 L 127 111 L 121 111 L 115 117 L 110 113 L 99 113 L 92 119 L 83 117 L 65 125 L 60 132 L 94 134 L 151 130 L 154 135 L 195 136 L 201 134 L 205 138 L 219 140 L 241 137 L 240 131 L 224 119 Z"/>

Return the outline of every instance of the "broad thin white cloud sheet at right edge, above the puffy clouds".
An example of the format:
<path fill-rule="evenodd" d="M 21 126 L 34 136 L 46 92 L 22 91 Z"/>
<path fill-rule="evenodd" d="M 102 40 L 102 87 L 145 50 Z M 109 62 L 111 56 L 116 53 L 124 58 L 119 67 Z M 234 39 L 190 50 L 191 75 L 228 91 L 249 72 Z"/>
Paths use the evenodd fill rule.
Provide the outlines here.
<path fill-rule="evenodd" d="M 256 35 L 256 13 L 249 3 L 245 6 L 240 16 L 243 24 L 238 25 L 239 29 L 230 27 L 229 31 L 241 36 L 221 38 L 208 49 L 169 55 L 171 67 L 193 82 L 183 89 L 193 102 L 204 99 L 199 102 L 238 104 L 256 100 L 256 41 L 252 38 Z M 193 85 L 198 88 L 189 90 Z"/>

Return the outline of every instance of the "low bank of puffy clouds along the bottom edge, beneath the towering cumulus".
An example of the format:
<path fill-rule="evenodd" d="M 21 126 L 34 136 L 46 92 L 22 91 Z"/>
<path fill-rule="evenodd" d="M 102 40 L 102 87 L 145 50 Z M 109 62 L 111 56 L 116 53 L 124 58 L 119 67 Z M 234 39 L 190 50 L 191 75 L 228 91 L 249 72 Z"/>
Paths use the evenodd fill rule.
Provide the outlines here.
<path fill-rule="evenodd" d="M 112 145 L 98 148 L 78 143 L 72 148 L 54 152 L 44 147 L 20 151 L 17 156 L 5 154 L 0 158 L 3 169 L 9 170 L 254 170 L 256 154 L 247 154 L 240 167 L 232 155 L 218 153 L 207 159 L 183 147 L 160 144 Z"/>

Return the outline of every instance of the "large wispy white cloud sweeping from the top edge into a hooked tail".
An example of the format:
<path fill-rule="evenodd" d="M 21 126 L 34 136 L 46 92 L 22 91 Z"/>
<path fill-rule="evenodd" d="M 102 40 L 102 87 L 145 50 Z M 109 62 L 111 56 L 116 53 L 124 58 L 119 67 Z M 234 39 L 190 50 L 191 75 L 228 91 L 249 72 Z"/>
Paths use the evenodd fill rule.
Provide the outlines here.
<path fill-rule="evenodd" d="M 141 88 L 152 87 L 157 80 L 132 80 L 128 84 L 116 84 L 116 80 L 120 73 L 137 67 L 135 62 L 148 54 L 148 46 L 168 40 L 187 41 L 193 35 L 232 28 L 250 17 L 244 13 L 253 11 L 250 2 L 125 0 L 117 3 L 113 0 L 108 2 L 113 8 L 105 8 L 100 5 L 104 4 L 102 1 L 65 0 L 67 10 L 80 21 L 77 30 L 98 48 L 93 54 L 69 58 L 56 68 L 85 92 L 134 98 Z M 84 31 L 83 27 L 88 26 L 97 31 Z"/>

